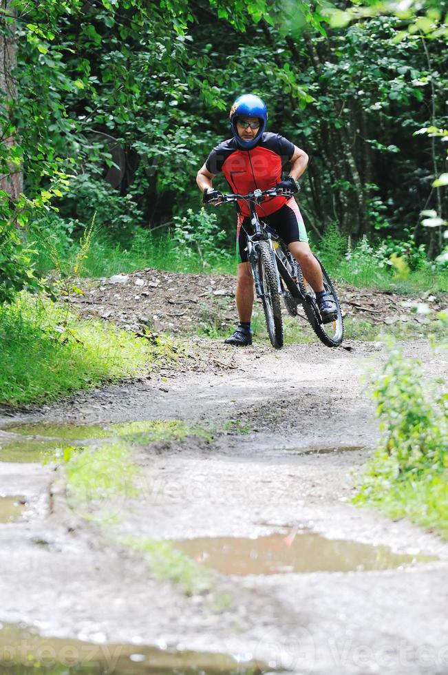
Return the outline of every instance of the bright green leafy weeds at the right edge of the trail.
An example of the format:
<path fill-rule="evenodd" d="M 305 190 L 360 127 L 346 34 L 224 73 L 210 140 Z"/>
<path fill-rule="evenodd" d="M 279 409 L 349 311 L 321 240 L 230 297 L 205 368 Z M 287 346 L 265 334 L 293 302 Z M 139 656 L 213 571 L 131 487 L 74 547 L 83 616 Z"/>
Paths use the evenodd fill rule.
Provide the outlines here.
<path fill-rule="evenodd" d="M 445 344 L 446 346 L 446 344 Z M 407 516 L 448 539 L 448 395 L 397 346 L 373 377 L 384 437 L 359 479 L 355 503 Z"/>

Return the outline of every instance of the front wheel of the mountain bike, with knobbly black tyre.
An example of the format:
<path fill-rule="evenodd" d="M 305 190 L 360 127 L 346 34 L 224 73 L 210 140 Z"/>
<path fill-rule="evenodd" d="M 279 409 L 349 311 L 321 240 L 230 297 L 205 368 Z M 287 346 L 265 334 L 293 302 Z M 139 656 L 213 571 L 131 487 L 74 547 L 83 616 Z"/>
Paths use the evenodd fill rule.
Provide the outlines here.
<path fill-rule="evenodd" d="M 269 340 L 275 349 L 281 349 L 283 346 L 283 321 L 281 320 L 277 270 L 268 242 L 259 242 L 258 251 L 257 267 L 262 286 L 262 302 Z"/>

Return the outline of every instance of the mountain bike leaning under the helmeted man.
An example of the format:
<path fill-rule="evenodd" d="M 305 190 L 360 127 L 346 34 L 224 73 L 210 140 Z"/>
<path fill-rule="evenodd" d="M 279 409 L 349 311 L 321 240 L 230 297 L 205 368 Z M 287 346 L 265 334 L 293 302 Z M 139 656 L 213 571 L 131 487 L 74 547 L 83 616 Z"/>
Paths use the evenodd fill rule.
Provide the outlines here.
<path fill-rule="evenodd" d="M 265 196 L 285 197 L 292 196 L 286 190 L 271 187 L 267 190 L 256 189 L 248 194 L 222 194 L 220 204 L 244 200 L 250 210 L 250 223 L 253 233 L 246 232 L 248 262 L 253 273 L 257 297 L 262 300 L 264 316 L 270 343 L 280 349 L 283 346 L 283 320 L 281 317 L 281 297 L 284 299 L 286 310 L 291 316 L 297 316 L 299 304 L 319 340 L 329 347 L 337 347 L 343 340 L 343 320 L 337 293 L 326 269 L 316 258 L 321 267 L 323 287 L 337 306 L 337 316 L 334 320 L 324 323 L 319 306 L 310 284 L 303 276 L 301 267 L 288 246 L 270 229 L 263 220 L 260 220 L 255 206 L 262 203 Z"/>

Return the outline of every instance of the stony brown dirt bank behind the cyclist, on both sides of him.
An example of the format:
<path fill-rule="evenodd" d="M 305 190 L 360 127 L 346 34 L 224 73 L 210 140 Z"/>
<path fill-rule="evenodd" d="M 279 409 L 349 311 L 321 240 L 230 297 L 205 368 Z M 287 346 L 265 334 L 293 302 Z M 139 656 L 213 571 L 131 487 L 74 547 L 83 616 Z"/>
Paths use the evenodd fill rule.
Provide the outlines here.
<path fill-rule="evenodd" d="M 235 322 L 235 277 L 184 274 L 144 269 L 100 279 L 80 279 L 83 295 L 72 302 L 85 318 L 104 318 L 128 330 L 150 326 L 156 331 L 191 335 L 192 331 L 226 330 Z M 180 291 L 181 289 L 181 291 Z M 448 295 L 420 293 L 412 297 L 392 291 L 358 289 L 338 284 L 343 316 L 377 323 L 425 324 L 425 314 L 412 307 L 426 303 L 434 312 L 448 307 Z"/>

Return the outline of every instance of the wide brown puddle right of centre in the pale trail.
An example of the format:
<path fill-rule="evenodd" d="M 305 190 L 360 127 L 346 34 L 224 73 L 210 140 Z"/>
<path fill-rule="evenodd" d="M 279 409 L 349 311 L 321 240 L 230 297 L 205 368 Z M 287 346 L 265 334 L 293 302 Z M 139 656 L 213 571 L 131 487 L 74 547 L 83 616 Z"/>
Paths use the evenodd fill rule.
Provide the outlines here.
<path fill-rule="evenodd" d="M 398 554 L 386 546 L 345 539 L 326 539 L 315 532 L 271 534 L 256 539 L 210 537 L 171 541 L 196 562 L 224 574 L 350 572 L 389 570 L 436 557 Z"/>

